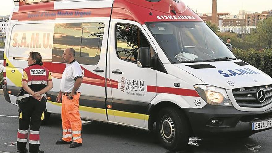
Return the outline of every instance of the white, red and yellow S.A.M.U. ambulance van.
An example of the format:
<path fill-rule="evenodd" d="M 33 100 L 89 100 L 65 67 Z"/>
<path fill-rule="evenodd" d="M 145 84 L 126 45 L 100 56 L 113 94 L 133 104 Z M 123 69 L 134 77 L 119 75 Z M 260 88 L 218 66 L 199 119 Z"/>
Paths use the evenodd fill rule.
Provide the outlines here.
<path fill-rule="evenodd" d="M 272 79 L 238 59 L 180 0 L 15 0 L 4 95 L 15 104 L 28 53 L 41 53 L 56 102 L 74 48 L 82 119 L 155 131 L 168 150 L 189 138 L 247 137 L 272 128 Z"/>

